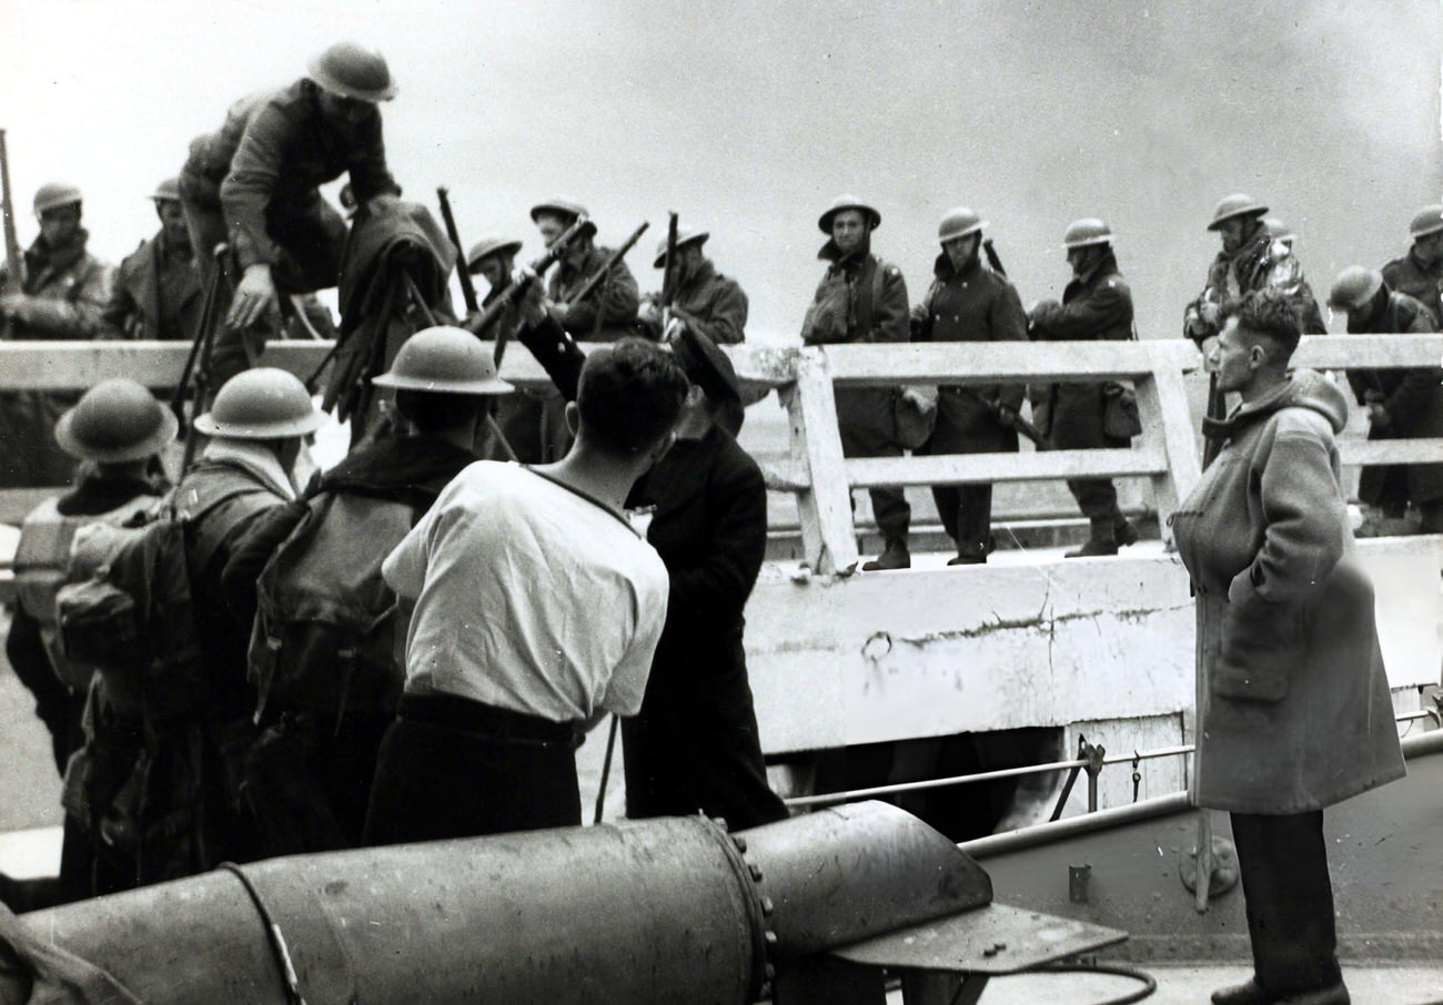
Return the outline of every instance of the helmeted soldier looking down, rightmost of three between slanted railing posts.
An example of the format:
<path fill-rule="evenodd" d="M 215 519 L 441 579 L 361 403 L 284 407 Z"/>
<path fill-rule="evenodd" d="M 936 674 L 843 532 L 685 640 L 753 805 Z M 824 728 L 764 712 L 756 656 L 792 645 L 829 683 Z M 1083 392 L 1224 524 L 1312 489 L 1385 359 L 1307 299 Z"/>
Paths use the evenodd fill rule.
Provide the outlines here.
<path fill-rule="evenodd" d="M 1032 309 L 1032 337 L 1055 340 L 1117 340 L 1133 337 L 1133 291 L 1117 270 L 1113 231 L 1100 219 L 1079 219 L 1062 238 L 1072 281 L 1062 303 L 1043 300 Z M 1053 384 L 1033 391 L 1038 428 L 1058 450 L 1127 447 L 1131 440 L 1107 431 L 1107 385 Z M 1068 489 L 1091 523 L 1088 541 L 1068 558 L 1115 555 L 1118 545 L 1137 541 L 1137 529 L 1117 506 L 1111 479 L 1071 479 Z"/>

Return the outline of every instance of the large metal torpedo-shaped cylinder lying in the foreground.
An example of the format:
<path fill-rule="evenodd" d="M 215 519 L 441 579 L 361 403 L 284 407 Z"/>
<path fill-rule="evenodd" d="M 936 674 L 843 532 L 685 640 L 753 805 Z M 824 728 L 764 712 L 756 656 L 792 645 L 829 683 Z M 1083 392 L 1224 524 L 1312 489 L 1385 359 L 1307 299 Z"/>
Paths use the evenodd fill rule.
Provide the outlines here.
<path fill-rule="evenodd" d="M 991 900 L 967 855 L 885 803 L 736 838 L 674 818 L 242 872 L 0 914 L 0 1005 L 27 993 L 6 942 L 51 991 L 81 973 L 147 1005 L 742 1005 L 766 980 L 768 953 L 804 956 Z"/>

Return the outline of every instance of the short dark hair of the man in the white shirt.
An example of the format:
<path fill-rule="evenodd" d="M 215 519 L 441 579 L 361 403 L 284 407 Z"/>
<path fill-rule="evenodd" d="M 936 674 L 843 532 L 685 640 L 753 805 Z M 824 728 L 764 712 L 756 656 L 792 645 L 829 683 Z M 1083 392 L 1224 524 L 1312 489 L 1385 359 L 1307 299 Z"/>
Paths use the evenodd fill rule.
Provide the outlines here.
<path fill-rule="evenodd" d="M 586 358 L 576 408 L 590 441 L 629 457 L 671 431 L 690 386 L 670 352 L 628 337 Z"/>

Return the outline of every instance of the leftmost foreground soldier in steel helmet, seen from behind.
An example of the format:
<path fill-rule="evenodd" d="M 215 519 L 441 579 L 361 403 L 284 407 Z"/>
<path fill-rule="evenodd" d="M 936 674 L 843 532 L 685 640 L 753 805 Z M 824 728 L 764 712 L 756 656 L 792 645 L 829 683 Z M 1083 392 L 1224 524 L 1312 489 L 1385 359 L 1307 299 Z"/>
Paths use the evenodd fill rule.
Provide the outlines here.
<path fill-rule="evenodd" d="M 91 688 L 92 668 L 69 660 L 58 640 L 56 591 L 71 572 L 71 545 L 78 529 L 133 523 L 160 500 L 167 486 L 156 457 L 175 440 L 176 427 L 175 415 L 146 388 L 121 379 L 91 388 L 55 427 L 61 447 L 85 464 L 79 484 L 38 506 L 20 531 L 14 555 L 17 606 L 6 656 L 35 695 L 61 773 L 79 747 L 114 745 L 111 737 L 98 735 L 113 721 Z M 104 845 L 92 841 L 88 822 L 66 813 L 59 887 L 51 884 L 23 908 L 3 893 L 0 900 L 16 910 L 36 910 L 40 900 L 61 903 L 124 888 L 127 869 L 97 862 L 98 852 Z"/>

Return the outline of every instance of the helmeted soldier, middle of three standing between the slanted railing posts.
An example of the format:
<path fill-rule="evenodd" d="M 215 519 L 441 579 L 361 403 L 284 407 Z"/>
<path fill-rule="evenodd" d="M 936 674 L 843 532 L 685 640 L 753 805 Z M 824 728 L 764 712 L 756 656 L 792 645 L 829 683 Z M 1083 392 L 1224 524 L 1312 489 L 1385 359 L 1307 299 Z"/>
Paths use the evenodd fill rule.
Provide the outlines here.
<path fill-rule="evenodd" d="M 1022 297 L 981 261 L 987 223 L 965 206 L 938 226 L 942 254 L 932 267 L 932 285 L 912 309 L 913 342 L 1026 342 L 1027 314 Z M 1026 388 L 1013 385 L 938 388 L 937 425 L 929 454 L 975 454 L 1017 450 L 1016 415 Z M 991 544 L 991 486 L 932 486 L 942 528 L 957 545 L 952 565 L 987 561 Z"/>

